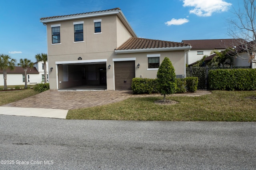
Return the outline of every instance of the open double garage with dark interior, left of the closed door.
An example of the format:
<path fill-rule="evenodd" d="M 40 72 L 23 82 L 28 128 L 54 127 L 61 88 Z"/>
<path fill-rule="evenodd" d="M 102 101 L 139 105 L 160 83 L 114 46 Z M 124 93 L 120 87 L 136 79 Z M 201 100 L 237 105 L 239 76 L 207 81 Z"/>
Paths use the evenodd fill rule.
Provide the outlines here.
<path fill-rule="evenodd" d="M 106 90 L 106 62 L 58 65 L 59 90 Z"/>

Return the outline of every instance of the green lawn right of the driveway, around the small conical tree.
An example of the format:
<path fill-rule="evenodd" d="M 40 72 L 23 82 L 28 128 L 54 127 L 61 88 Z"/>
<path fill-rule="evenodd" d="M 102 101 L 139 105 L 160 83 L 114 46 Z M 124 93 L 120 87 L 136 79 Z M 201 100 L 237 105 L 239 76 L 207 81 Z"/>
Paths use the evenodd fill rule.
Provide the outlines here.
<path fill-rule="evenodd" d="M 199 97 L 167 97 L 176 105 L 156 105 L 163 97 L 125 101 L 68 111 L 66 119 L 139 121 L 256 121 L 256 91 L 212 91 Z"/>

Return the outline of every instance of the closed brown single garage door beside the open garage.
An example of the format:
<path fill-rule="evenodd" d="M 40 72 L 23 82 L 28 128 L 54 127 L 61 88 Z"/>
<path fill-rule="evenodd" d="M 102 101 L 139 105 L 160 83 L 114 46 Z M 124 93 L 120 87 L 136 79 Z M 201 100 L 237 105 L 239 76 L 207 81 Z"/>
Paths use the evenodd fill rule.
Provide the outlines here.
<path fill-rule="evenodd" d="M 132 89 L 132 79 L 135 77 L 135 61 L 115 61 L 115 89 Z"/>

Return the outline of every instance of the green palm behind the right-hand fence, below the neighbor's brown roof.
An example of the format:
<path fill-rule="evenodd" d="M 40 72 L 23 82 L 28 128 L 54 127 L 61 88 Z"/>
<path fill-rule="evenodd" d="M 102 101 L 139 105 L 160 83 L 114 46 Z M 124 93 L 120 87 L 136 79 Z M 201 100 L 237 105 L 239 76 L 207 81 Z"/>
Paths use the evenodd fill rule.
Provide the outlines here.
<path fill-rule="evenodd" d="M 222 67 L 224 67 L 224 65 L 233 65 L 234 58 L 232 56 L 232 51 L 234 51 L 234 49 L 231 48 L 225 49 L 221 52 L 217 49 L 214 49 L 213 51 L 211 51 L 211 54 L 215 53 L 216 55 L 212 58 L 212 64 L 218 67 L 220 67 L 221 65 Z"/>

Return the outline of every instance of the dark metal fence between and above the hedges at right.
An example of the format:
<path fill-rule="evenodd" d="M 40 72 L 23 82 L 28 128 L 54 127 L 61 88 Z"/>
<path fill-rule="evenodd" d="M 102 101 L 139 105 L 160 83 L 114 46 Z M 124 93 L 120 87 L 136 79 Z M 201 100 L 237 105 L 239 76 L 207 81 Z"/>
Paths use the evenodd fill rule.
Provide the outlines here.
<path fill-rule="evenodd" d="M 206 89 L 208 71 L 214 69 L 249 69 L 250 66 L 244 67 L 187 67 L 186 68 L 186 77 L 198 77 L 198 89 Z"/>

